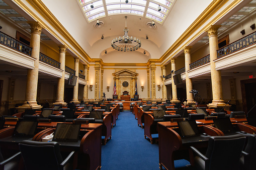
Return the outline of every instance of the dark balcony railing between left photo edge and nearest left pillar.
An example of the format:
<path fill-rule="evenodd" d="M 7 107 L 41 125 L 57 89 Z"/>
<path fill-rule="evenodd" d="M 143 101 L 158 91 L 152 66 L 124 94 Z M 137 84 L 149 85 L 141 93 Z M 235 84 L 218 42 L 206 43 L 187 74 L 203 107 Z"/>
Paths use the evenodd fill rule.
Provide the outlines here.
<path fill-rule="evenodd" d="M 19 40 L 0 32 L 0 43 L 16 51 L 31 56 L 32 47 L 20 42 Z"/>

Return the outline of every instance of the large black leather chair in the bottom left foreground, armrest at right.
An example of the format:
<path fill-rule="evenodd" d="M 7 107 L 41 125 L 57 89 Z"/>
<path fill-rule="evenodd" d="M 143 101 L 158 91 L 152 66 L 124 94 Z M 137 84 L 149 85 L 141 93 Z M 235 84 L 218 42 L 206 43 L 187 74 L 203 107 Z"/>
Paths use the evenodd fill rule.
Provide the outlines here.
<path fill-rule="evenodd" d="M 26 170 L 72 169 L 74 151 L 63 160 L 58 142 L 23 140 L 19 144 Z M 35 156 L 36 153 L 36 156 Z"/>

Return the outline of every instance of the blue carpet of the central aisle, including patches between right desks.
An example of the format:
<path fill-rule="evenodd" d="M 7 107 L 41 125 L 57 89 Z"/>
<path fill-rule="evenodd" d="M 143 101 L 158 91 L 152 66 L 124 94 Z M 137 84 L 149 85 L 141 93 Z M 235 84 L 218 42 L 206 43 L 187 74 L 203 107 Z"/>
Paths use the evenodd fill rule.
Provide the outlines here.
<path fill-rule="evenodd" d="M 154 135 L 153 137 L 157 137 Z M 132 112 L 120 112 L 112 139 L 102 145 L 102 169 L 159 169 L 158 144 L 144 138 L 144 129 L 138 126 Z M 187 160 L 175 160 L 175 167 L 186 168 Z"/>

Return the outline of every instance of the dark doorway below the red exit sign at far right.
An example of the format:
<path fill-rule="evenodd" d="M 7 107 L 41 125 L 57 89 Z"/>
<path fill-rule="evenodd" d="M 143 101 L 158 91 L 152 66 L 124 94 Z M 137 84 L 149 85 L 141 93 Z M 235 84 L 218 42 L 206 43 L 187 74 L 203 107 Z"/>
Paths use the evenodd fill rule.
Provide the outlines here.
<path fill-rule="evenodd" d="M 241 80 L 242 105 L 243 111 L 250 116 L 256 116 L 256 79 Z"/>

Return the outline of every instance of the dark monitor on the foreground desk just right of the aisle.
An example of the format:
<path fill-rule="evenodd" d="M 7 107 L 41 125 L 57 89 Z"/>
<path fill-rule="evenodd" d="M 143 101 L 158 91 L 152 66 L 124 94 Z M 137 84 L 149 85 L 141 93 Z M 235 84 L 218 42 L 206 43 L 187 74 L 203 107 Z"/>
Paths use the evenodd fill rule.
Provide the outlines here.
<path fill-rule="evenodd" d="M 196 120 L 185 120 L 177 123 L 180 129 L 182 138 L 200 135 Z"/>

